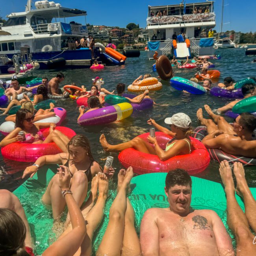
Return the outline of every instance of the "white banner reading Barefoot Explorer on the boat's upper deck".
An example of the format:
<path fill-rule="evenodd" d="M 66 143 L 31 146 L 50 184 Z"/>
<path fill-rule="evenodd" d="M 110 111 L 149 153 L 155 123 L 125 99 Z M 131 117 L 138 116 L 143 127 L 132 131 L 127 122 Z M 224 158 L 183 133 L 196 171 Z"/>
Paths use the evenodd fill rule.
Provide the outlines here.
<path fill-rule="evenodd" d="M 202 20 L 215 19 L 215 13 L 197 13 L 197 14 L 185 14 L 185 15 L 171 15 L 162 17 L 149 17 L 147 18 L 147 24 L 164 24 L 175 22 L 197 22 Z"/>

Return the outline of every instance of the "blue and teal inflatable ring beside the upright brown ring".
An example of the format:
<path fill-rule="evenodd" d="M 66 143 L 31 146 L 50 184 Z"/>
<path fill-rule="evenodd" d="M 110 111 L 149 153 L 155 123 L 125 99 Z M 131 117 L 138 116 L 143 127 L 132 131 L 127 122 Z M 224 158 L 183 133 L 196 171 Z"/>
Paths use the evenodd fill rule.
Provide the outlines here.
<path fill-rule="evenodd" d="M 192 94 L 204 94 L 207 92 L 206 89 L 204 89 L 204 87 L 202 87 L 198 83 L 178 76 L 174 76 L 173 78 L 171 78 L 170 85 L 176 90 L 185 90 Z"/>

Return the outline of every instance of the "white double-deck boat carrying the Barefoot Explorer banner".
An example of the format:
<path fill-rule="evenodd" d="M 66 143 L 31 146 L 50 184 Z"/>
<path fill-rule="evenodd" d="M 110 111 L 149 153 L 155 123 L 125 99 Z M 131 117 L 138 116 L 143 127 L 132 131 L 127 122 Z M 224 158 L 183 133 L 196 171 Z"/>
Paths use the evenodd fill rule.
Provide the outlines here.
<path fill-rule="evenodd" d="M 173 54 L 173 39 L 179 35 L 189 39 L 195 56 L 213 55 L 215 38 L 208 37 L 216 25 L 213 4 L 214 1 L 186 4 L 182 0 L 180 4 L 148 6 L 148 58 L 152 59 L 155 51 L 159 55 Z"/>

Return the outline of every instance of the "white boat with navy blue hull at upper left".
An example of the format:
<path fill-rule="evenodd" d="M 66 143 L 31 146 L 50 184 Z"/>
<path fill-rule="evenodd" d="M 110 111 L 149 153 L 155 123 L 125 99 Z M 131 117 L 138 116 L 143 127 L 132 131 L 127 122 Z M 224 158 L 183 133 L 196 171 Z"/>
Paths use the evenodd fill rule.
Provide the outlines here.
<path fill-rule="evenodd" d="M 43 69 L 90 67 L 91 50 L 76 50 L 74 43 L 75 39 L 80 41 L 88 36 L 86 15 L 86 11 L 48 1 L 37 1 L 32 9 L 28 0 L 24 12 L 7 15 L 3 29 L 10 35 L 0 35 L 0 54 L 12 58 L 13 54 L 32 53 L 32 59 Z M 81 16 L 85 18 L 85 25 L 74 21 Z M 99 50 L 95 49 L 95 58 L 99 56 Z"/>

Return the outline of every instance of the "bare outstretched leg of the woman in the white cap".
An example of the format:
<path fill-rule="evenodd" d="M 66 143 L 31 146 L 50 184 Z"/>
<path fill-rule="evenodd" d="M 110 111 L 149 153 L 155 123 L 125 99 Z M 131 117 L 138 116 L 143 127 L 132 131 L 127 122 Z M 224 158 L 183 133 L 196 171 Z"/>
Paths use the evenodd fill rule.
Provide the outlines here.
<path fill-rule="evenodd" d="M 131 141 L 120 143 L 117 145 L 110 145 L 104 134 L 100 135 L 100 144 L 105 151 L 120 152 L 126 148 L 134 148 L 140 152 L 148 154 L 156 154 L 154 148 L 152 148 L 146 141 L 141 138 L 134 138 Z"/>

